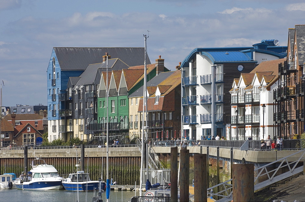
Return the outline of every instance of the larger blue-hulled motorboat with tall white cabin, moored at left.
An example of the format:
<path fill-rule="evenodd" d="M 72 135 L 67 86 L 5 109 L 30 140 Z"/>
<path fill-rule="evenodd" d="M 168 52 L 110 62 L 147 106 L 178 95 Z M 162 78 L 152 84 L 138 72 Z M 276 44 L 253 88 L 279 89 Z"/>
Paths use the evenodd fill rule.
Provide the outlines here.
<path fill-rule="evenodd" d="M 35 157 L 29 175 L 20 176 L 15 182 L 17 189 L 23 190 L 60 190 L 63 189 L 62 177 L 52 165 Z"/>

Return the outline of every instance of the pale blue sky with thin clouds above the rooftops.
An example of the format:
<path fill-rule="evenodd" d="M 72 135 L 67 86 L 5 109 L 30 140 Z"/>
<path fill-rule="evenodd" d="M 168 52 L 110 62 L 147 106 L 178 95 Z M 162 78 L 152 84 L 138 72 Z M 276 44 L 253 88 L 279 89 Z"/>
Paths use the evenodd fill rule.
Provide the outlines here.
<path fill-rule="evenodd" d="M 303 0 L 0 0 L 2 106 L 47 105 L 53 47 L 144 47 L 146 34 L 151 63 L 175 70 L 195 48 L 287 46 L 304 15 Z"/>

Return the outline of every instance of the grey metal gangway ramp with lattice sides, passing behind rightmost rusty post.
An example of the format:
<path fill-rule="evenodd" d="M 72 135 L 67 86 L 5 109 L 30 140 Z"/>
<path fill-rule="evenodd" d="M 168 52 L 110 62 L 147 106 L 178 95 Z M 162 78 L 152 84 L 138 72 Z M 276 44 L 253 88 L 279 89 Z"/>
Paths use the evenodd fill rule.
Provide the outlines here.
<path fill-rule="evenodd" d="M 264 187 L 267 187 L 271 184 L 277 183 L 279 181 L 285 180 L 289 177 L 292 177 L 296 174 L 303 172 L 303 166 L 296 167 L 298 163 L 302 162 L 305 159 L 305 149 L 300 150 L 298 152 L 295 152 L 289 156 L 286 156 L 282 159 L 278 159 L 274 162 L 268 163 L 265 166 L 261 166 L 259 168 L 254 169 L 254 173 L 257 173 L 257 176 L 254 178 L 254 183 L 258 182 L 259 177 L 267 176 L 267 180 L 257 183 L 254 185 L 254 191 L 257 191 L 259 189 L 262 189 Z M 288 162 L 288 159 L 292 159 L 292 162 Z M 274 166 L 275 169 L 272 169 L 270 171 L 267 170 L 267 168 L 271 168 L 271 166 Z M 287 172 L 277 175 L 277 173 L 280 173 L 282 171 L 282 168 L 288 169 Z M 233 185 L 232 185 L 232 179 L 227 180 L 223 183 L 217 184 L 213 187 L 210 187 L 207 189 L 207 193 L 209 196 L 219 196 L 222 197 L 221 199 L 217 200 L 219 202 L 228 202 L 231 201 L 233 198 Z M 220 190 L 217 193 L 212 193 L 212 190 Z M 190 196 L 193 197 L 194 195 Z"/>

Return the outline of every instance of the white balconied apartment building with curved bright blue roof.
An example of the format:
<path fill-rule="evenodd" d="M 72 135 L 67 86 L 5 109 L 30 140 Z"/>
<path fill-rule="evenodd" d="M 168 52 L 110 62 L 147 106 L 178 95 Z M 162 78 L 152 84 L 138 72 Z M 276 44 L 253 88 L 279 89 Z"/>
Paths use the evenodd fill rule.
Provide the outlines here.
<path fill-rule="evenodd" d="M 262 40 L 252 47 L 196 48 L 181 63 L 182 122 L 187 139 L 226 136 L 231 114 L 232 80 L 249 73 L 262 61 L 287 55 L 277 40 Z"/>

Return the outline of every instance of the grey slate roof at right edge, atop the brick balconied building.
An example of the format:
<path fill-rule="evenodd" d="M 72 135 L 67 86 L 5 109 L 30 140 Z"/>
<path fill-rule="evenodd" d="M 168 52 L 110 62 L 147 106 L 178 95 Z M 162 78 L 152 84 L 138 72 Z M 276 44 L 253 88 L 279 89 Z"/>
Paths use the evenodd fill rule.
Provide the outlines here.
<path fill-rule="evenodd" d="M 303 66 L 305 62 L 305 25 L 296 25 L 296 43 L 299 65 Z"/>

